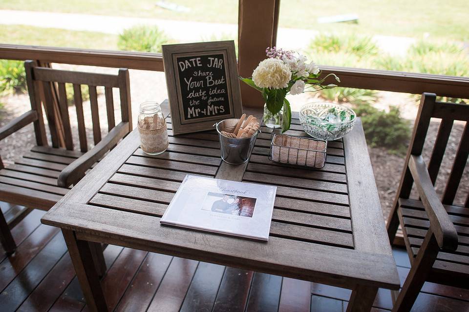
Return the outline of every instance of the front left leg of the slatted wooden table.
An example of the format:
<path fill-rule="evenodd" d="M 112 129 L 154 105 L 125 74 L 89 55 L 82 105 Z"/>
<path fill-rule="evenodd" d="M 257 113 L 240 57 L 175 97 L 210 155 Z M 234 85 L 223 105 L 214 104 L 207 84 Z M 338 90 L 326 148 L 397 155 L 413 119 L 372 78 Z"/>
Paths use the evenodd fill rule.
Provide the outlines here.
<path fill-rule="evenodd" d="M 108 311 L 89 242 L 78 240 L 73 231 L 62 229 L 62 233 L 89 310 Z"/>

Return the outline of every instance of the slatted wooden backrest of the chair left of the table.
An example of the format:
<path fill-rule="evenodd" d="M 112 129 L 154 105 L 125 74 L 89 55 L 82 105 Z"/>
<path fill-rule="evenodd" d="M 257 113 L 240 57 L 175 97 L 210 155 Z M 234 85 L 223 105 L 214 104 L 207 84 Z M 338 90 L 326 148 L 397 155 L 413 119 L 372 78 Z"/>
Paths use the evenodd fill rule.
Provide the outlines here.
<path fill-rule="evenodd" d="M 73 99 L 77 113 L 78 137 L 80 150 L 82 152 L 88 151 L 82 85 L 86 85 L 89 90 L 94 145 L 98 144 L 102 139 L 100 118 L 98 114 L 98 86 L 103 86 L 105 88 L 108 125 L 107 131 L 109 132 L 116 126 L 114 117 L 114 99 L 112 94 L 113 88 L 119 89 L 121 120 L 122 122 L 128 122 L 129 129 L 132 129 L 129 76 L 127 69 L 119 69 L 118 75 L 74 72 L 38 67 L 36 66 L 36 63 L 31 60 L 25 62 L 25 68 L 29 96 L 31 98 L 31 108 L 39 111 L 40 119 L 43 117 L 39 101 L 40 96 L 38 96 L 38 94 L 43 93 L 43 106 L 49 125 L 52 147 L 59 147 L 61 145 L 61 136 L 59 133 L 60 130 L 62 130 L 65 148 L 67 150 L 74 149 L 72 125 L 70 124 L 70 116 L 68 114 L 65 83 L 71 83 L 73 85 Z M 58 91 L 57 104 L 54 103 L 54 90 Z M 54 118 L 54 116 L 56 118 Z M 37 125 L 35 124 L 35 133 L 37 144 L 47 145 L 47 140 L 44 139 L 45 132 L 43 122 L 39 121 Z"/>

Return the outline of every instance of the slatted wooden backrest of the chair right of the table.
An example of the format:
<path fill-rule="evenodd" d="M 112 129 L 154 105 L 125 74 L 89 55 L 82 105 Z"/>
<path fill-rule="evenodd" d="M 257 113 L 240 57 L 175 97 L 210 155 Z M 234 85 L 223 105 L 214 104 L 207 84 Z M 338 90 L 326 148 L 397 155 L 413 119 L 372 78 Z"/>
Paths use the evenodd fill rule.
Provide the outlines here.
<path fill-rule="evenodd" d="M 454 121 L 466 122 L 442 197 L 443 204 L 452 205 L 469 156 L 469 105 L 439 102 L 436 101 L 436 95 L 430 93 L 422 95 L 410 142 L 410 153 L 406 157 L 406 172 L 402 181 L 400 197 L 408 198 L 410 195 L 413 180 L 407 167 L 409 156 L 410 154 L 422 154 L 432 117 L 441 119 L 435 144 L 428 162 L 428 174 L 433 184 L 435 184 L 438 177 Z M 469 207 L 469 194 L 467 195 L 465 206 Z"/>

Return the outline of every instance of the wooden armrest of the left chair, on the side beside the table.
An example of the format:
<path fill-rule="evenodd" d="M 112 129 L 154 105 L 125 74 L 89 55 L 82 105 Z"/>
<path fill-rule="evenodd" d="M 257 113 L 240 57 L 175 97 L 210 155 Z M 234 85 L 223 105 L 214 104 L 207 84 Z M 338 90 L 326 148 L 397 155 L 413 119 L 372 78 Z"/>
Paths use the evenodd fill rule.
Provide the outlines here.
<path fill-rule="evenodd" d="M 121 138 L 126 136 L 128 132 L 128 122 L 121 122 L 112 128 L 107 136 L 98 144 L 62 170 L 57 180 L 57 185 L 60 187 L 69 187 L 72 184 L 76 184 L 85 176 L 86 170 L 116 145 Z"/>

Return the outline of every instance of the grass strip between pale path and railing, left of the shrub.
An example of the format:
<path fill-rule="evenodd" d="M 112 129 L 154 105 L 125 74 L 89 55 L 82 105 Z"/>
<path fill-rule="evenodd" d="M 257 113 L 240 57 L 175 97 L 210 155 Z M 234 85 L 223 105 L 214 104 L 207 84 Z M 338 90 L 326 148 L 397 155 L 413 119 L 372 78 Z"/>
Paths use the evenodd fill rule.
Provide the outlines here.
<path fill-rule="evenodd" d="M 1 25 L 1 30 L 1 43 L 117 50 L 117 35 L 23 25 Z"/>

